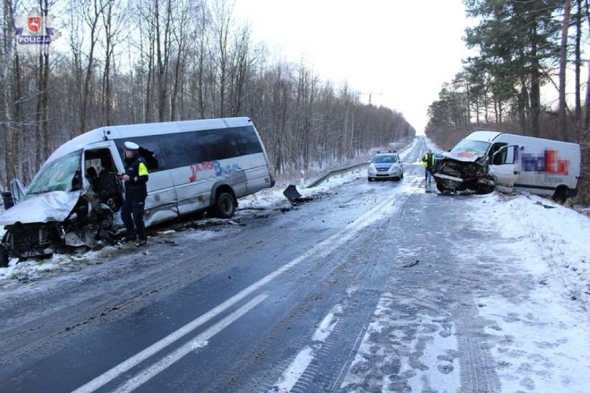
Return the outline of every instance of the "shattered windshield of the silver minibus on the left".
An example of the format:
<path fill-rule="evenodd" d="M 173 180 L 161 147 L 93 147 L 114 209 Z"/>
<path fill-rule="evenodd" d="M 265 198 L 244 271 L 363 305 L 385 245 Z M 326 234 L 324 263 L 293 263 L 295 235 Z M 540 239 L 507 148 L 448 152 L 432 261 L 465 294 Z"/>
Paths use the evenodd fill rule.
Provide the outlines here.
<path fill-rule="evenodd" d="M 39 170 L 30 183 L 25 198 L 30 195 L 44 194 L 51 191 L 74 191 L 81 187 L 80 163 L 82 150 L 67 154 L 48 163 Z"/>

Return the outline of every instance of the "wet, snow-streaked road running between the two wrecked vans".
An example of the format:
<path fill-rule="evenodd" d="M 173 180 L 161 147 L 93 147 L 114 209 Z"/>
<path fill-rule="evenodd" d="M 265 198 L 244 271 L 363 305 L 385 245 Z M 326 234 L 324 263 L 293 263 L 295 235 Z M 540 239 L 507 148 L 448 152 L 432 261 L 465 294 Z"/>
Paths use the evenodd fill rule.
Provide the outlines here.
<path fill-rule="evenodd" d="M 586 392 L 585 305 L 523 262 L 555 255 L 503 237 L 496 195 L 425 193 L 422 143 L 401 182 L 4 286 L 0 392 Z"/>

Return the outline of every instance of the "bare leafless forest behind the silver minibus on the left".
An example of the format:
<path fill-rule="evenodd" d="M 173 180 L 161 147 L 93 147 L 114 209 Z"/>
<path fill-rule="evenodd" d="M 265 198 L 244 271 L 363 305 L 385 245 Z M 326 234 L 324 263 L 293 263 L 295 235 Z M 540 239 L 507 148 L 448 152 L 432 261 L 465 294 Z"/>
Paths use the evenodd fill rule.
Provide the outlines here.
<path fill-rule="evenodd" d="M 253 42 L 229 0 L 4 0 L 0 12 L 1 189 L 109 125 L 247 116 L 275 174 L 415 136 L 402 113 Z M 35 52 L 15 31 L 37 15 L 55 34 Z"/>

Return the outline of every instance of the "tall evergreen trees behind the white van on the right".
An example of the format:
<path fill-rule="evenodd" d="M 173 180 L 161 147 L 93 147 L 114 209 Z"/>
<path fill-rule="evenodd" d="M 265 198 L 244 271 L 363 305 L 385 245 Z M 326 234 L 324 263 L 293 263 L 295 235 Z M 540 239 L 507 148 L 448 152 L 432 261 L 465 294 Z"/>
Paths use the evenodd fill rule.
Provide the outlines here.
<path fill-rule="evenodd" d="M 463 3 L 474 22 L 465 44 L 477 55 L 442 85 L 426 135 L 445 149 L 476 129 L 580 143 L 576 201 L 590 204 L 589 1 Z"/>

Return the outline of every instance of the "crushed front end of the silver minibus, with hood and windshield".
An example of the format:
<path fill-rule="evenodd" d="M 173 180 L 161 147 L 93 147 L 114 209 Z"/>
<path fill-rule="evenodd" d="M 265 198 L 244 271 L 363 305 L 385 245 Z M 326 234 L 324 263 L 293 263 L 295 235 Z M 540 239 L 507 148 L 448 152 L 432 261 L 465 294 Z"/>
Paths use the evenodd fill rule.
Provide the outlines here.
<path fill-rule="evenodd" d="M 99 248 L 113 237 L 114 212 L 80 174 L 80 152 L 42 167 L 22 201 L 0 214 L 1 259 L 50 257 L 57 250 Z"/>

